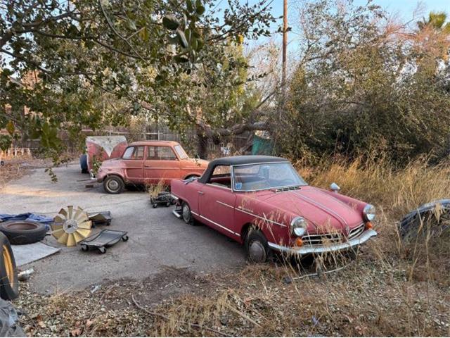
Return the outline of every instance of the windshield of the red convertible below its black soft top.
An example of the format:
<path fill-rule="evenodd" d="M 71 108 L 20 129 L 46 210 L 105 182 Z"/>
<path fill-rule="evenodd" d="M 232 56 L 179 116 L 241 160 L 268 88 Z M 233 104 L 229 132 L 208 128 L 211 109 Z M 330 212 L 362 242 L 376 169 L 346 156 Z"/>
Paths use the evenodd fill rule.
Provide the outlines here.
<path fill-rule="evenodd" d="M 258 163 L 233 166 L 233 189 L 254 192 L 307 185 L 290 163 Z"/>

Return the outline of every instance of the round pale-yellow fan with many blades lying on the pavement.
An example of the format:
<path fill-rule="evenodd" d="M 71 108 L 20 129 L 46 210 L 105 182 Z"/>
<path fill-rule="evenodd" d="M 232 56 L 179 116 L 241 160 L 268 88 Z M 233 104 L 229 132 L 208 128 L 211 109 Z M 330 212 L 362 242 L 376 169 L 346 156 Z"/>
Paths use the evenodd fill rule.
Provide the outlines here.
<path fill-rule="evenodd" d="M 88 214 L 78 207 L 68 206 L 67 210 L 61 208 L 58 215 L 53 219 L 51 225 L 51 234 L 58 239 L 58 243 L 67 246 L 75 246 L 79 241 L 85 239 L 91 234 L 92 222 Z"/>

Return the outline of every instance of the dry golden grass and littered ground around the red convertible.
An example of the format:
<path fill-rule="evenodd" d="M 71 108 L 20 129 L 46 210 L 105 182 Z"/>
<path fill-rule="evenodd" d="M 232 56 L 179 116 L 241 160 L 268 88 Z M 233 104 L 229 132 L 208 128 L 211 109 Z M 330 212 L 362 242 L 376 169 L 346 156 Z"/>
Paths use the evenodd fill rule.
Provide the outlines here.
<path fill-rule="evenodd" d="M 397 232 L 398 220 L 411 209 L 450 197 L 449 167 L 415 161 L 394 170 L 389 163 L 323 161 L 318 167 L 299 169 L 310 184 L 328 187 L 337 182 L 343 194 L 378 208 L 378 238 L 364 245 L 356 259 L 344 256 L 322 262 L 328 269 L 345 267 L 342 270 L 314 277 L 309 274 L 315 265 L 307 262 L 304 267 L 282 260 L 248 265 L 238 273 L 214 277 L 206 288 L 193 282 L 190 292 L 149 307 L 168 319 L 148 315 L 129 299 L 128 304 L 122 299 L 122 306 L 115 305 L 109 297 L 116 294 L 129 297 L 132 292 L 138 301 L 151 297 L 145 285 L 123 284 L 105 297 L 84 292 L 67 301 L 68 296 L 62 296 L 66 301 L 59 301 L 59 311 L 79 315 L 65 316 L 70 320 L 61 320 L 65 328 L 59 331 L 40 329 L 33 322 L 23 324 L 32 326 L 29 332 L 44 335 L 71 334 L 77 322 L 91 323 L 79 331 L 82 335 L 214 334 L 188 322 L 229 336 L 449 336 L 448 239 L 427 237 L 406 245 Z M 286 283 L 286 276 L 292 282 Z M 123 288 L 128 291 L 122 293 Z M 49 320 L 54 320 L 54 303 L 55 299 L 39 297 L 37 312 L 49 313 Z M 89 306 L 105 311 L 84 313 Z"/>

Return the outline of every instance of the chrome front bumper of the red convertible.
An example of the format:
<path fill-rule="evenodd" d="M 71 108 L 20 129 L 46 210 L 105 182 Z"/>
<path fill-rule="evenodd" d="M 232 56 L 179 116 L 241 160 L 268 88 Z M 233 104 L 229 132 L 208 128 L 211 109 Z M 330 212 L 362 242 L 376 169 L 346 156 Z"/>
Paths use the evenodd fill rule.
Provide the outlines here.
<path fill-rule="evenodd" d="M 360 234 L 356 238 L 350 239 L 348 242 L 339 243 L 339 244 L 330 244 L 330 245 L 305 245 L 300 246 L 298 249 L 294 249 L 288 246 L 282 246 L 275 243 L 269 242 L 269 246 L 271 249 L 281 251 L 283 253 L 290 253 L 295 255 L 307 255 L 309 253 L 325 253 L 325 252 L 333 252 L 333 251 L 341 251 L 351 249 L 353 246 L 358 246 L 367 242 L 368 239 L 377 235 L 377 232 L 372 229 L 368 229 Z"/>

